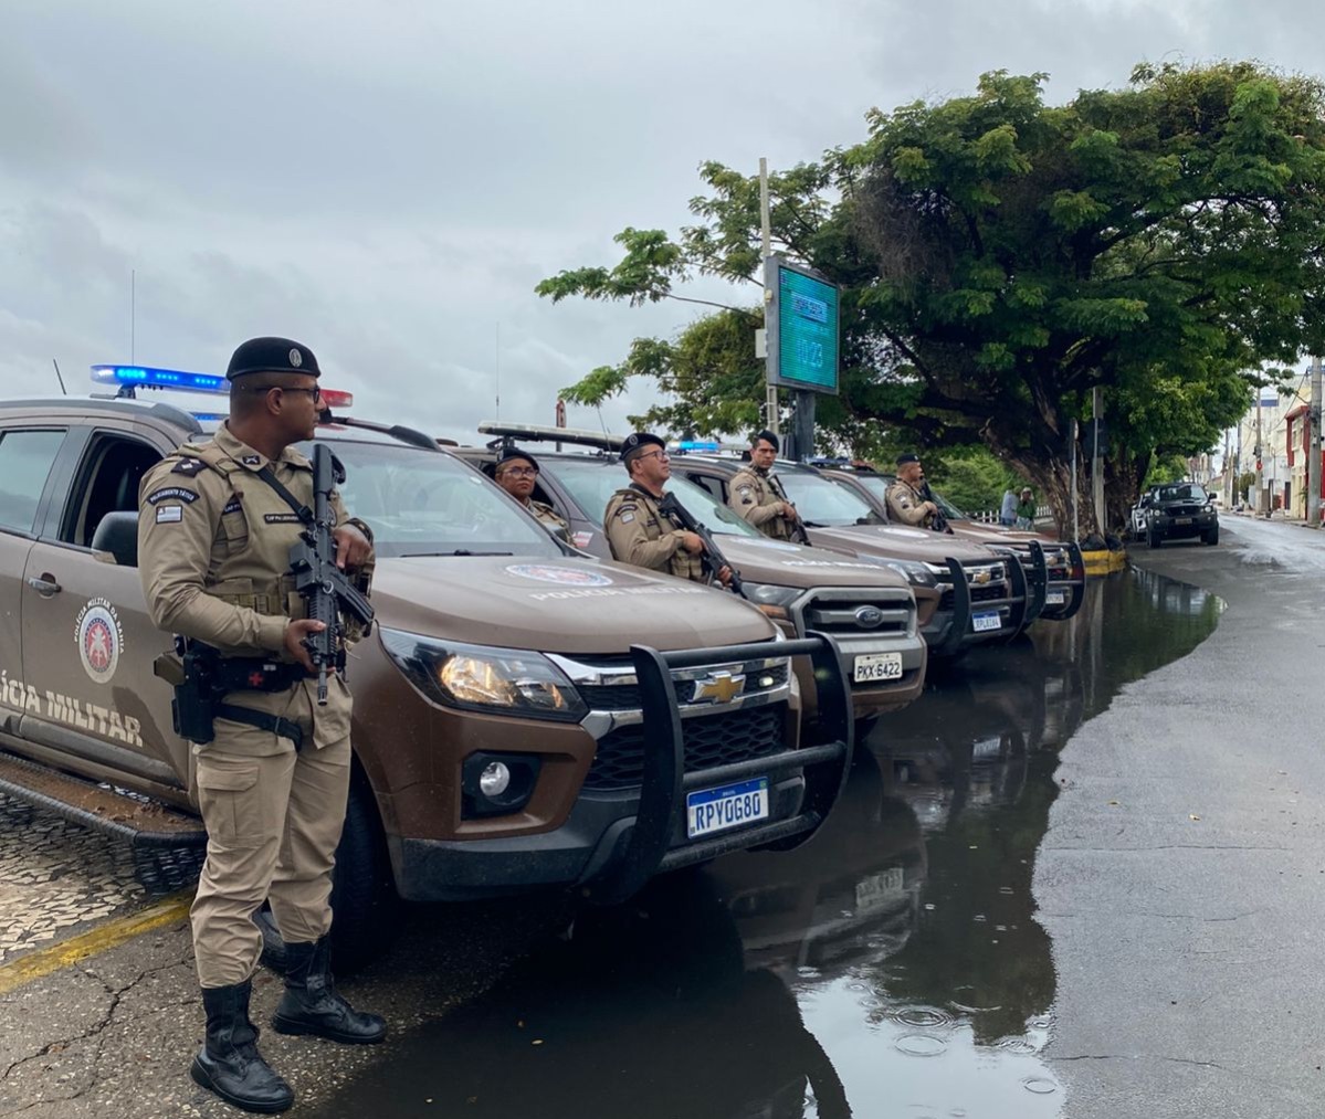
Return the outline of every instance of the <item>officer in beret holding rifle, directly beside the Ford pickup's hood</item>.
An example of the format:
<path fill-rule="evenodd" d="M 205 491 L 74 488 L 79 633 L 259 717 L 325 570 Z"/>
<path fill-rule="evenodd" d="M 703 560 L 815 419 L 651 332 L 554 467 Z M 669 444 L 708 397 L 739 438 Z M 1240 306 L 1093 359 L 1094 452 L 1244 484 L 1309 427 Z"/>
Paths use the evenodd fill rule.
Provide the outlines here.
<path fill-rule="evenodd" d="M 672 477 L 666 444 L 652 432 L 635 432 L 621 444 L 621 465 L 631 485 L 608 498 L 603 514 L 612 559 L 706 583 L 704 542 L 659 509 Z M 730 577 L 731 568 L 723 565 L 718 579 L 726 583 Z"/>

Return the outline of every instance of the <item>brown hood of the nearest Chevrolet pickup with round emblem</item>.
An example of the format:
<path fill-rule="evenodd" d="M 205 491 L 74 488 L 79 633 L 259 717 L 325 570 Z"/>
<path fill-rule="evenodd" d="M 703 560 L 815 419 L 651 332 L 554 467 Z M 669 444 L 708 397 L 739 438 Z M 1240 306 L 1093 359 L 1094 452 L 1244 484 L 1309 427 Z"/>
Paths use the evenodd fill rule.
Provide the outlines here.
<path fill-rule="evenodd" d="M 378 622 L 473 645 L 615 654 L 767 641 L 775 626 L 726 591 L 574 558 L 379 559 Z"/>

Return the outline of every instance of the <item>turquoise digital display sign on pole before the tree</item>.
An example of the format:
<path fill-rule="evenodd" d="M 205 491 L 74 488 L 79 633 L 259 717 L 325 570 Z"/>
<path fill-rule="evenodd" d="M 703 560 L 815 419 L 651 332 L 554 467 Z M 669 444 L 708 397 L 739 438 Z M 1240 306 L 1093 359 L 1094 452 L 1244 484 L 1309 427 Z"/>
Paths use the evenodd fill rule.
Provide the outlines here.
<path fill-rule="evenodd" d="M 837 392 L 837 287 L 803 265 L 765 261 L 768 383 Z"/>

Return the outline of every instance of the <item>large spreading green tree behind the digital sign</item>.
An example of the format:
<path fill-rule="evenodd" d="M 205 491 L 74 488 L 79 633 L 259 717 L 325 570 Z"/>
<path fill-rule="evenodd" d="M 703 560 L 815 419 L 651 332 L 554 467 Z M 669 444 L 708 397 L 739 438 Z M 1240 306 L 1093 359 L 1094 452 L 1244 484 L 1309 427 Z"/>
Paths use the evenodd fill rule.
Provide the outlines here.
<path fill-rule="evenodd" d="M 1242 413 L 1244 371 L 1325 344 L 1325 97 L 1251 62 L 1140 66 L 1126 89 L 1064 106 L 1044 103 L 1043 81 L 996 72 L 971 97 L 871 113 L 863 143 L 771 177 L 774 244 L 843 289 L 829 442 L 859 453 L 880 429 L 982 442 L 1063 528 L 1072 421 L 1101 387 L 1121 523 L 1151 457 L 1207 450 Z M 701 173 L 709 195 L 677 240 L 625 230 L 615 269 L 539 293 L 639 303 L 685 298 L 674 286 L 700 277 L 757 283 L 758 183 L 716 163 Z M 697 407 L 719 379 L 749 385 L 747 408 L 762 397 L 750 339 L 717 334 L 705 319 L 659 343 L 697 424 L 753 414 Z M 678 348 L 706 364 L 682 379 Z M 628 362 L 612 384 L 640 371 Z M 1081 514 L 1092 531 L 1088 501 Z"/>

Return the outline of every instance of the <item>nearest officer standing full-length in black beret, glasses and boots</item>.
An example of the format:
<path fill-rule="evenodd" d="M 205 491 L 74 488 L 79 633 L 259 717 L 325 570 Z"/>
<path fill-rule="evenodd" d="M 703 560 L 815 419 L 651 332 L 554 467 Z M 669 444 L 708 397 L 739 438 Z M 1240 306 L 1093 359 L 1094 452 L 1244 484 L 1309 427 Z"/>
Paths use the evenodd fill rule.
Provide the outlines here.
<path fill-rule="evenodd" d="M 186 444 L 143 478 L 139 556 L 152 621 L 216 650 L 238 686 L 224 695 L 215 738 L 192 747 L 207 862 L 191 910 L 207 1034 L 191 1073 L 249 1111 L 284 1111 L 289 1085 L 257 1050 L 249 993 L 264 899 L 286 943 L 280 1033 L 378 1042 L 386 1024 L 337 993 L 327 932 L 331 869 L 350 781 L 350 691 L 327 682 L 326 706 L 302 641 L 323 624 L 302 616 L 290 546 L 313 506 L 309 460 L 290 448 L 318 420 L 318 363 L 288 338 L 256 338 L 231 358 L 231 414 L 207 442 Z M 273 485 L 274 483 L 274 485 Z M 281 489 L 288 494 L 282 495 Z M 371 531 L 333 497 L 337 564 L 367 589 Z M 356 636 L 356 633 L 351 633 Z"/>

